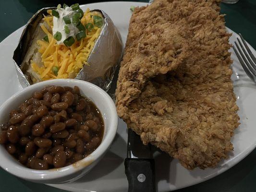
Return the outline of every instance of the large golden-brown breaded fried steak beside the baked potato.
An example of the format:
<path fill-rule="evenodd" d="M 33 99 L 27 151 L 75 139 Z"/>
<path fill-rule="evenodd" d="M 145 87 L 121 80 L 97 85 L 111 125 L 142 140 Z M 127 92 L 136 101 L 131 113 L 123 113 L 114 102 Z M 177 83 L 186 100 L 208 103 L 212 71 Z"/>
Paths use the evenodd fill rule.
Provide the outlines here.
<path fill-rule="evenodd" d="M 119 72 L 119 116 L 188 169 L 227 158 L 239 125 L 218 3 L 155 0 L 135 9 Z"/>

